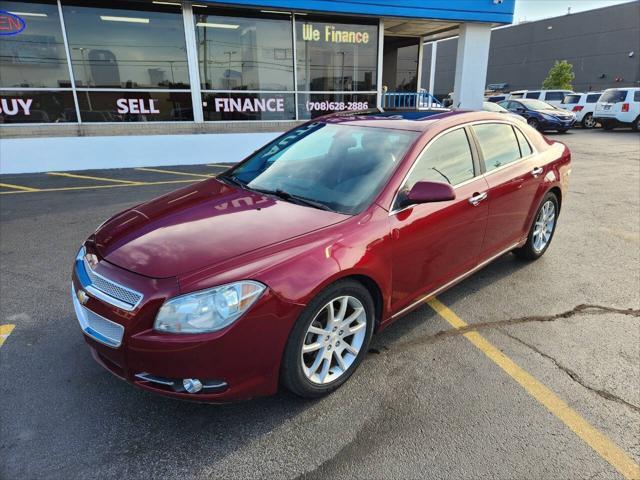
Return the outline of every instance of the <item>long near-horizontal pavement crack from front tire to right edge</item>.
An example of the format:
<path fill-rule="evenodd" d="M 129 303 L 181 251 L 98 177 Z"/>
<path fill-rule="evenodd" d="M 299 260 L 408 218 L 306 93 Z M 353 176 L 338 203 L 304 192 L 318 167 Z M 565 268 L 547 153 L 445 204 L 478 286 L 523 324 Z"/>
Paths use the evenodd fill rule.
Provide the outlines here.
<path fill-rule="evenodd" d="M 589 314 L 589 315 L 597 315 L 597 314 L 603 314 L 603 313 L 616 313 L 620 315 L 629 315 L 631 317 L 640 317 L 640 309 L 637 309 L 637 310 L 632 308 L 622 309 L 622 308 L 606 307 L 603 305 L 580 304 L 580 305 L 576 305 L 571 310 L 567 310 L 566 312 L 562 312 L 562 313 L 556 313 L 554 315 L 533 315 L 533 316 L 527 316 L 527 317 L 509 318 L 506 320 L 497 320 L 492 322 L 479 322 L 479 323 L 469 324 L 466 327 L 462 327 L 462 328 L 440 330 L 439 332 L 433 335 L 419 336 L 412 340 L 398 343 L 392 347 L 382 347 L 382 348 L 393 350 L 393 353 L 398 353 L 398 352 L 409 350 L 413 347 L 417 347 L 420 345 L 428 345 L 430 343 L 437 342 L 444 338 L 464 335 L 465 333 L 468 333 L 468 332 L 475 332 L 478 330 L 487 330 L 487 329 L 497 329 L 499 327 L 503 327 L 507 325 L 518 325 L 521 323 L 554 322 L 560 319 L 571 318 L 581 313 Z"/>

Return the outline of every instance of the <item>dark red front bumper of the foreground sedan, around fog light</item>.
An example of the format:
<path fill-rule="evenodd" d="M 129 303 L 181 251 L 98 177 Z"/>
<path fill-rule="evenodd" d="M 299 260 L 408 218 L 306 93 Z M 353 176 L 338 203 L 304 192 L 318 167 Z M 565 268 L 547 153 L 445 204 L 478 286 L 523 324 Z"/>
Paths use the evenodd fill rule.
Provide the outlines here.
<path fill-rule="evenodd" d="M 267 289 L 244 316 L 223 330 L 159 333 L 153 322 L 164 301 L 178 294 L 175 279 L 149 279 L 104 261 L 95 272 L 143 295 L 135 309 L 119 308 L 92 295 L 78 265 L 74 268 L 73 303 L 85 341 L 94 359 L 117 377 L 154 393 L 200 402 L 236 401 L 277 391 L 282 353 L 302 306 Z M 78 299 L 80 290 L 87 296 L 84 304 Z M 96 321 L 107 322 L 104 325 L 113 326 L 114 332 L 121 330 L 120 338 L 105 335 L 101 325 L 91 324 L 87 317 L 102 319 Z M 205 388 L 188 393 L 183 379 L 198 379 Z"/>

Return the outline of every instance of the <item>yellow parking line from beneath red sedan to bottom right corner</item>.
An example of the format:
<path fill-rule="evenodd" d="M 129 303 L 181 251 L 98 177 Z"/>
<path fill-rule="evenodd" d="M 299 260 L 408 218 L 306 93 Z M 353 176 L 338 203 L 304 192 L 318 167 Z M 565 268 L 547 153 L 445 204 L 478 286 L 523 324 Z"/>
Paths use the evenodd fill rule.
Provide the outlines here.
<path fill-rule="evenodd" d="M 453 328 L 460 329 L 468 326 L 467 323 L 439 300 L 434 298 L 427 303 L 438 315 L 449 322 Z M 603 433 L 591 426 L 555 393 L 536 380 L 531 374 L 525 372 L 478 332 L 467 332 L 464 334 L 464 337 L 489 357 L 496 365 L 502 368 L 511 378 L 518 382 L 529 395 L 544 405 L 625 478 L 640 479 L 640 465 Z"/>

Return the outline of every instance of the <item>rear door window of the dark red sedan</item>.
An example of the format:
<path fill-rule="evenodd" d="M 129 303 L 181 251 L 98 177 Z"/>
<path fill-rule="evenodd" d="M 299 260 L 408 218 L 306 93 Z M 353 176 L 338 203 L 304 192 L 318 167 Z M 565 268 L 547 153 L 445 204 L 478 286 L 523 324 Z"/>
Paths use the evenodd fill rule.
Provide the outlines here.
<path fill-rule="evenodd" d="M 473 131 L 480 143 L 487 172 L 520 159 L 520 145 L 511 125 L 484 123 L 474 125 Z"/>

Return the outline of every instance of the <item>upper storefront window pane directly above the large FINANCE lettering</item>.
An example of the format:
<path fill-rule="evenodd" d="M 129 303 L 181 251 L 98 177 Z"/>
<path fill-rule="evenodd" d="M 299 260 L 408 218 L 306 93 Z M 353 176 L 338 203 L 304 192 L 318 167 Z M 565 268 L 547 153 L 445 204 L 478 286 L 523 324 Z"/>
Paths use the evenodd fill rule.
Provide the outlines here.
<path fill-rule="evenodd" d="M 204 90 L 293 90 L 291 19 L 208 13 L 194 6 Z"/>

